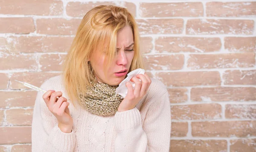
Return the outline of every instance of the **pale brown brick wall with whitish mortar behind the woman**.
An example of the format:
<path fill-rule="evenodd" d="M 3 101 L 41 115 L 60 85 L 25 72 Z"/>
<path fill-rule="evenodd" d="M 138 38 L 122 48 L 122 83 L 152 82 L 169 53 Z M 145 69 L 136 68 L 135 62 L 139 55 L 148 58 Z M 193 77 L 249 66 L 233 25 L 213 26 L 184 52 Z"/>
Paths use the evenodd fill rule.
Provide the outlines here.
<path fill-rule="evenodd" d="M 102 4 L 136 16 L 146 70 L 168 87 L 171 152 L 256 152 L 255 1 L 80 1 L 0 0 L 1 152 L 31 151 L 37 92 L 14 79 L 59 75 L 81 18 Z"/>

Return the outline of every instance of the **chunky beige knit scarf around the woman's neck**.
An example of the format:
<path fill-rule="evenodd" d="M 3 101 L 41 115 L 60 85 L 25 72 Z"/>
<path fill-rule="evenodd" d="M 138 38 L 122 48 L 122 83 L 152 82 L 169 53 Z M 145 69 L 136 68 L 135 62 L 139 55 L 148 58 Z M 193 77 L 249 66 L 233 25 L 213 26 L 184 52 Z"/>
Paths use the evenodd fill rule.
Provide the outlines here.
<path fill-rule="evenodd" d="M 115 115 L 119 104 L 123 100 L 121 95 L 116 95 L 116 88 L 118 86 L 99 83 L 95 76 L 90 83 L 92 87 L 87 87 L 86 95 L 79 94 L 79 100 L 84 108 L 94 115 Z"/>

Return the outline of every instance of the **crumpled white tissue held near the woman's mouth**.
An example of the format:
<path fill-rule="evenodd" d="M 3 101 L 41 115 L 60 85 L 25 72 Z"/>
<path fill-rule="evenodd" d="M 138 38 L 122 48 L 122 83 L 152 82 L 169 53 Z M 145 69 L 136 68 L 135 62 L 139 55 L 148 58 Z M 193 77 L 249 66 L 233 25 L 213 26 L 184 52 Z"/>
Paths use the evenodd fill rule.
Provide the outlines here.
<path fill-rule="evenodd" d="M 125 80 L 123 80 L 119 86 L 116 88 L 116 94 L 119 94 L 121 95 L 122 97 L 121 98 L 125 98 L 125 96 L 127 95 L 127 92 L 128 92 L 128 89 L 127 87 L 125 86 L 125 84 L 127 82 L 130 82 L 133 86 L 133 89 L 135 88 L 135 83 L 134 82 L 131 82 L 131 78 L 136 76 L 136 75 L 139 75 L 139 74 L 143 74 L 144 75 L 145 73 L 145 70 L 144 69 L 136 69 L 134 71 L 131 71 L 130 73 L 127 74 L 127 77 L 125 78 Z M 139 79 L 140 80 L 140 79 Z"/>

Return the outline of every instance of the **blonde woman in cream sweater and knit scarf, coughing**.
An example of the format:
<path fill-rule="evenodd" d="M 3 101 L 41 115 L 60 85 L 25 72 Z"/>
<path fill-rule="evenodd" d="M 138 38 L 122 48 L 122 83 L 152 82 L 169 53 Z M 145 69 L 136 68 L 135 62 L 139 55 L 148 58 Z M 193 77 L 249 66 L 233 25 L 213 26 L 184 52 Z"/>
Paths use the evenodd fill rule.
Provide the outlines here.
<path fill-rule="evenodd" d="M 88 11 L 62 75 L 44 82 L 48 91 L 37 95 L 32 152 L 169 152 L 171 114 L 163 83 L 140 74 L 131 78 L 134 89 L 126 83 L 124 99 L 115 94 L 138 68 L 139 32 L 127 9 Z"/>

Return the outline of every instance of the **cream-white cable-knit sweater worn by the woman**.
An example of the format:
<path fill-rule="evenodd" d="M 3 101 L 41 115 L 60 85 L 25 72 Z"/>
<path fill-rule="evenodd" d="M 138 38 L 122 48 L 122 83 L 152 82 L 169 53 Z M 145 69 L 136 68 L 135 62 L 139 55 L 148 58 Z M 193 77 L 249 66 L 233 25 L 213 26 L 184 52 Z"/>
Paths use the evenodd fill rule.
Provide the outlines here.
<path fill-rule="evenodd" d="M 166 87 L 151 79 L 147 94 L 134 109 L 113 117 L 92 115 L 70 104 L 73 130 L 64 133 L 38 92 L 32 120 L 32 152 L 169 152 L 171 109 Z M 61 76 L 48 79 L 42 89 L 61 91 Z"/>

